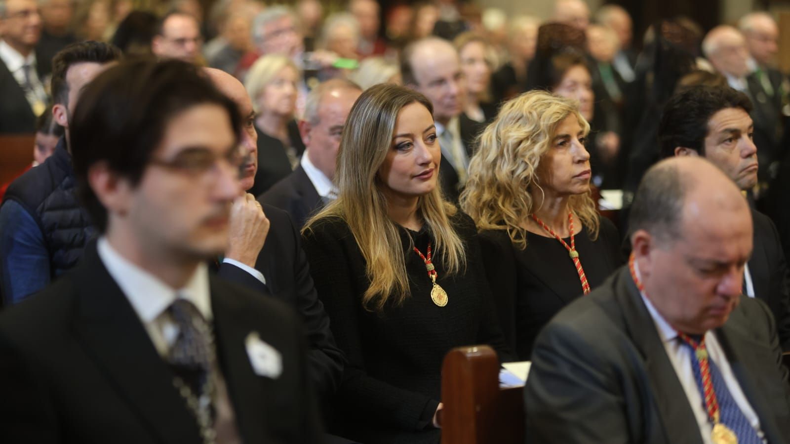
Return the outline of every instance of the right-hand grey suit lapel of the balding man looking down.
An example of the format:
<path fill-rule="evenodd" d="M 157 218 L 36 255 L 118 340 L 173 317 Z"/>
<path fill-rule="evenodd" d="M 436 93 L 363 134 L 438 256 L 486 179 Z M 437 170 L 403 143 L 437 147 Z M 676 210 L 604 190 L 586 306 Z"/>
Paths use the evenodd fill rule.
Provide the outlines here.
<path fill-rule="evenodd" d="M 760 419 L 760 427 L 766 434 L 768 442 L 781 442 L 781 437 L 787 437 L 779 431 L 774 420 L 774 412 L 759 389 L 759 382 L 755 381 L 756 376 L 764 373 L 759 367 L 760 364 L 765 365 L 765 363 L 773 362 L 771 358 L 773 353 L 766 347 L 766 344 L 753 341 L 748 333 L 741 329 L 740 325 L 743 322 L 748 321 L 742 315 L 733 313 L 728 322 L 717 329 L 716 335 L 727 355 L 732 373 L 735 374 L 743 394 L 746 395 L 749 404 Z M 768 389 L 777 388 L 769 387 Z"/>

